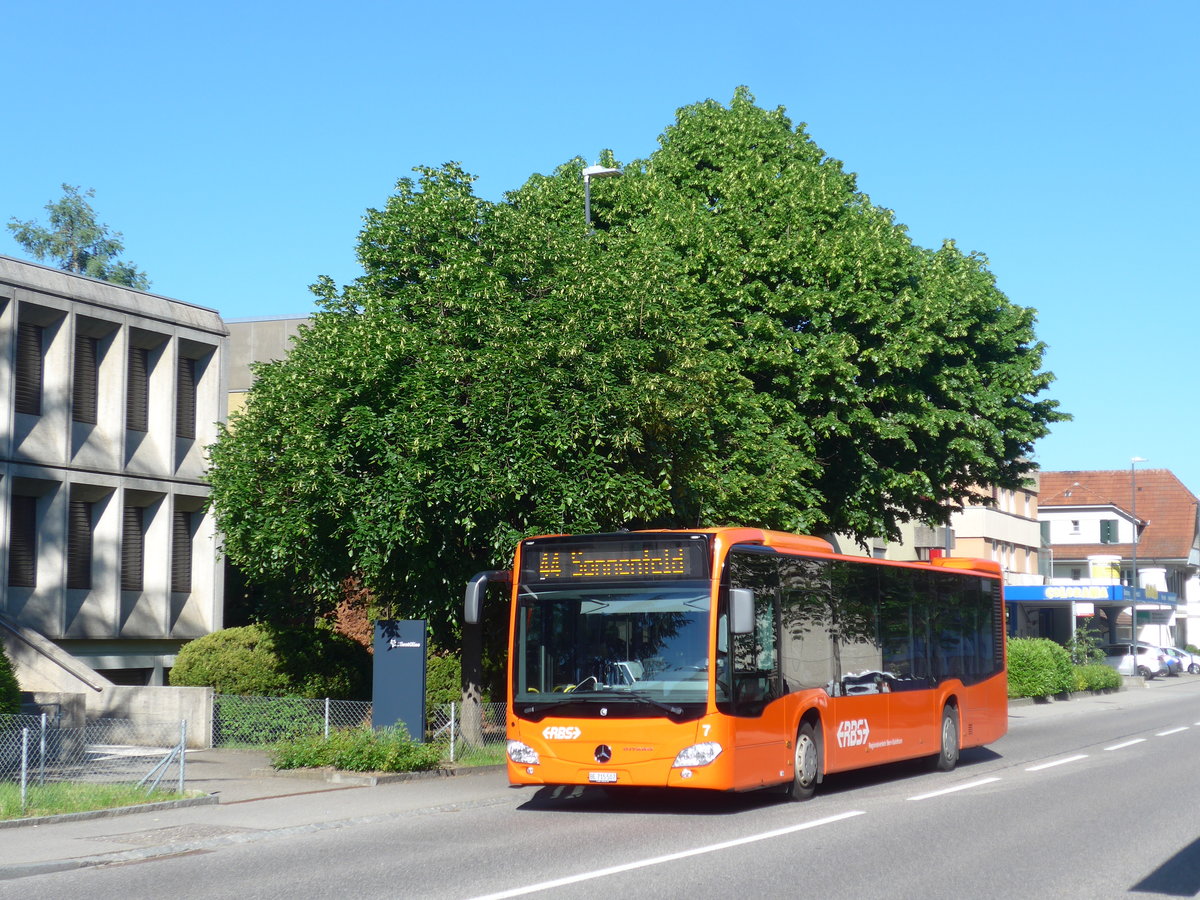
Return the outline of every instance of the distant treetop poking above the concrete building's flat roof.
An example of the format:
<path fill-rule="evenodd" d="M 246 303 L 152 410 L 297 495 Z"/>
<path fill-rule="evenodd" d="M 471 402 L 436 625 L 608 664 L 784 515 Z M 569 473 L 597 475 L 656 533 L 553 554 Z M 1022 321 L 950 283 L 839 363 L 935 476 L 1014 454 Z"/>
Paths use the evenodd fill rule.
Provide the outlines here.
<path fill-rule="evenodd" d="M 13 217 L 8 230 L 26 252 L 37 259 L 49 257 L 64 271 L 145 290 L 150 287 L 146 274 L 116 258 L 125 250 L 121 233 L 110 234 L 108 226 L 96 221 L 96 210 L 85 199 L 95 196 L 91 188 L 79 193 L 78 187 L 62 185 L 62 199 L 46 204 L 49 228 L 37 220 L 22 222 Z"/>

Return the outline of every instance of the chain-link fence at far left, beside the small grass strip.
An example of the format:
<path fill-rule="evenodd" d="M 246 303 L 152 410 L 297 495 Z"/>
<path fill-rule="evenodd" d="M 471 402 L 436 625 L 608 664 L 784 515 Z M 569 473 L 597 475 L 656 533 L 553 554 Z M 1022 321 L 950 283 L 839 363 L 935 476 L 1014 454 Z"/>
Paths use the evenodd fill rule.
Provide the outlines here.
<path fill-rule="evenodd" d="M 109 796 L 112 786 L 184 793 L 186 721 L 97 719 L 61 727 L 56 718 L 0 716 L 0 818 Z M 32 812 L 31 812 L 32 810 Z"/>

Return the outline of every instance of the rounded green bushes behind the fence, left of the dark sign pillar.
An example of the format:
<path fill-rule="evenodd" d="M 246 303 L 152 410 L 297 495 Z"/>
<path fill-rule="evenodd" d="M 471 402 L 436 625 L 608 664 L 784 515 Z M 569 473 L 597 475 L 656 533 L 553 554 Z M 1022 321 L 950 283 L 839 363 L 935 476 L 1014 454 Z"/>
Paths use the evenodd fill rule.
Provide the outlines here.
<path fill-rule="evenodd" d="M 186 643 L 170 683 L 218 694 L 355 700 L 370 696 L 371 656 L 326 628 L 227 628 Z"/>

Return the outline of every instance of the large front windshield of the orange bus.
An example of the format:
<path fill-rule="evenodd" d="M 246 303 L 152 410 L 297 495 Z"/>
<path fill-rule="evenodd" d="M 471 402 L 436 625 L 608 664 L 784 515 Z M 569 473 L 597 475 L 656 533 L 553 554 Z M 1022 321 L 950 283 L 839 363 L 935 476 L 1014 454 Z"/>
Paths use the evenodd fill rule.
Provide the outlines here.
<path fill-rule="evenodd" d="M 678 703 L 703 703 L 709 606 L 707 582 L 522 586 L 514 647 L 515 706 L 538 713 L 551 706 L 624 701 L 649 708 L 634 714 L 662 715 L 682 712 Z M 581 708 L 569 712 L 589 714 Z"/>

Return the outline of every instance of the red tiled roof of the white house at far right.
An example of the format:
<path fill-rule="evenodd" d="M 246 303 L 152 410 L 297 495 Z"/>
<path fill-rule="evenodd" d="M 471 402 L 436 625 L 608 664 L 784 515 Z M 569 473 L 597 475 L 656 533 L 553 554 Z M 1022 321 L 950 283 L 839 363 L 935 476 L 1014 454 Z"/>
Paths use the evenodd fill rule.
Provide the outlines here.
<path fill-rule="evenodd" d="M 1133 515 L 1133 474 L 1129 469 L 1109 472 L 1043 472 L 1038 509 L 1056 506 L 1118 506 Z M 1196 538 L 1198 502 L 1170 469 L 1139 469 L 1138 518 L 1142 532 L 1138 557 L 1187 559 Z M 1132 556 L 1128 544 L 1057 544 L 1056 558 L 1079 558 L 1111 553 Z"/>

